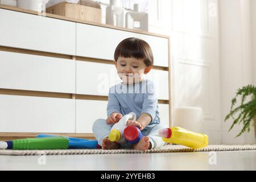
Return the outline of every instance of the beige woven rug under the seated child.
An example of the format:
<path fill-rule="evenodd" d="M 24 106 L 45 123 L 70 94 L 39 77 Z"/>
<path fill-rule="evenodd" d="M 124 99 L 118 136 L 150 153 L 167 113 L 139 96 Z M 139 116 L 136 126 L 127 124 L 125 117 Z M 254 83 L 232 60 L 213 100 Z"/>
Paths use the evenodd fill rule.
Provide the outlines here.
<path fill-rule="evenodd" d="M 203 151 L 240 151 L 256 150 L 256 145 L 209 145 L 201 149 L 192 149 L 179 145 L 163 146 L 156 149 L 141 150 L 102 150 L 102 149 L 68 149 L 68 150 L 0 150 L 0 155 L 76 155 L 76 154 L 134 154 L 156 152 L 203 152 Z"/>

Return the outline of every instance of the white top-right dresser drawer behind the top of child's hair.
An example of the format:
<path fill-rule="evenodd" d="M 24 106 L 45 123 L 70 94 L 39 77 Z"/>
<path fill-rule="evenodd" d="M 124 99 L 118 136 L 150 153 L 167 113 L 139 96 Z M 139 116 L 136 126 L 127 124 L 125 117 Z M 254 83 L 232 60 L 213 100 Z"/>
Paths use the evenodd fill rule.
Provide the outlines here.
<path fill-rule="evenodd" d="M 114 51 L 119 42 L 126 38 L 145 40 L 154 55 L 154 65 L 168 67 L 168 39 L 137 34 L 112 28 L 77 23 L 77 56 L 114 59 Z"/>

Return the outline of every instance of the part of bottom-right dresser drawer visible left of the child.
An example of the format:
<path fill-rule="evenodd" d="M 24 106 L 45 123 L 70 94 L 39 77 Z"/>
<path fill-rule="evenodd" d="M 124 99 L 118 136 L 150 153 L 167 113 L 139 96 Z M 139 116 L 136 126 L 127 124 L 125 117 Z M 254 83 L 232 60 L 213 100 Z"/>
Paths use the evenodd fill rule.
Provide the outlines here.
<path fill-rule="evenodd" d="M 96 119 L 106 119 L 108 101 L 76 100 L 76 133 L 93 133 Z"/>

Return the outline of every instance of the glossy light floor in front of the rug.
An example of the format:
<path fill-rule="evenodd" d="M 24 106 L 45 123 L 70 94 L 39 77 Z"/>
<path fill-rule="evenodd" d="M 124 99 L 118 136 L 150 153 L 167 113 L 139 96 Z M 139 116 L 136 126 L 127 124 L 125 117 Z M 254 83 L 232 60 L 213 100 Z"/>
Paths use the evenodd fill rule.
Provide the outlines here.
<path fill-rule="evenodd" d="M 3 170 L 256 170 L 256 151 L 5 156 Z"/>

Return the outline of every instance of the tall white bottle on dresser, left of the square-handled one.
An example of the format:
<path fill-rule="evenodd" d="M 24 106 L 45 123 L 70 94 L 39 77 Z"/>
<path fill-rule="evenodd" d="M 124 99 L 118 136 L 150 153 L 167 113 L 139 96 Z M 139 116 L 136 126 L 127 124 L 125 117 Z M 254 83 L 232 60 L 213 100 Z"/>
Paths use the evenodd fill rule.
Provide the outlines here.
<path fill-rule="evenodd" d="M 110 5 L 106 7 L 106 24 L 124 27 L 123 7 L 118 6 L 117 0 L 110 0 Z"/>

